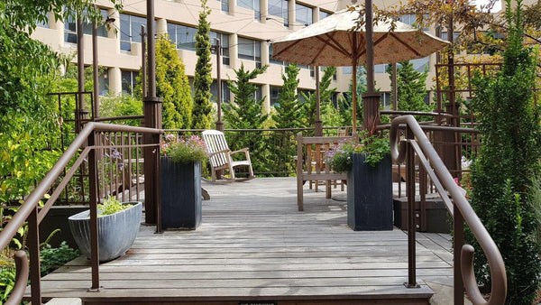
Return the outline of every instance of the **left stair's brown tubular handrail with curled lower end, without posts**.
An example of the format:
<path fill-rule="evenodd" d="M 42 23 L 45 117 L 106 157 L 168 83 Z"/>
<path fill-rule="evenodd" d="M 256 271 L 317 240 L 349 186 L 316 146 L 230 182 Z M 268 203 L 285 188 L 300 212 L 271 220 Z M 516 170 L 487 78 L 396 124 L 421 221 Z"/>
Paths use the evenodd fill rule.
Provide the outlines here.
<path fill-rule="evenodd" d="M 113 125 L 104 123 L 89 122 L 85 125 L 83 130 L 77 135 L 75 140 L 69 145 L 68 149 L 59 161 L 50 169 L 50 171 L 43 177 L 38 183 L 32 193 L 24 200 L 23 205 L 14 214 L 14 217 L 5 225 L 2 232 L 0 232 L 0 249 L 4 249 L 11 242 L 12 238 L 17 234 L 19 227 L 23 226 L 24 221 L 31 215 L 34 208 L 37 207 L 38 202 L 47 193 L 50 187 L 54 184 L 60 174 L 63 173 L 64 168 L 69 164 L 69 161 L 78 152 L 78 149 L 87 143 L 87 137 L 89 134 L 96 131 L 112 131 L 112 132 L 126 132 L 126 133 L 145 133 L 145 134 L 162 134 L 163 130 L 134 127 L 127 125 Z M 23 255 L 21 254 L 23 253 Z M 15 266 L 16 266 L 16 281 L 14 285 L 14 293 L 12 293 L 7 300 L 6 304 L 19 304 L 23 300 L 23 293 L 26 289 L 28 282 L 28 262 L 26 254 L 24 252 L 17 252 L 15 254 Z"/>

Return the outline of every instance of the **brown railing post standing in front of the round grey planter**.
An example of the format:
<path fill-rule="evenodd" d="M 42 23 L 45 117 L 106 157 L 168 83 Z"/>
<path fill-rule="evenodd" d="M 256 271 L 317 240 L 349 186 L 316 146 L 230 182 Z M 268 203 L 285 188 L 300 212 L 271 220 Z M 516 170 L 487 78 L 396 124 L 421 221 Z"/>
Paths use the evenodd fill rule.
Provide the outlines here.
<path fill-rule="evenodd" d="M 96 143 L 96 132 L 88 134 L 88 146 Z M 97 169 L 96 149 L 88 152 L 88 182 L 90 184 L 90 265 L 92 267 L 92 287 L 88 291 L 99 291 L 99 243 L 97 228 Z"/>

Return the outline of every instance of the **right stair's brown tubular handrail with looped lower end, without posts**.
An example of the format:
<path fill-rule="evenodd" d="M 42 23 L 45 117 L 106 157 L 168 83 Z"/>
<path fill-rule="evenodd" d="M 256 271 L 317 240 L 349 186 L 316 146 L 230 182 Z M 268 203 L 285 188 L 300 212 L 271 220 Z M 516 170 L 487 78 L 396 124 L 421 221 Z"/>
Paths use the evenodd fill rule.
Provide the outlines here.
<path fill-rule="evenodd" d="M 491 297 L 489 300 L 482 298 L 479 286 L 475 280 L 473 273 L 473 247 L 472 245 L 463 245 L 461 249 L 461 271 L 463 273 L 464 288 L 470 296 L 473 304 L 496 305 L 503 304 L 507 294 L 507 275 L 505 272 L 505 264 L 501 257 L 500 250 L 492 240 L 492 237 L 482 225 L 481 219 L 477 217 L 475 211 L 468 200 L 463 195 L 461 188 L 454 182 L 453 176 L 445 167 L 444 162 L 440 159 L 432 144 L 428 141 L 426 134 L 418 125 L 417 120 L 413 116 L 399 116 L 392 120 L 390 127 L 390 154 L 394 162 L 401 163 L 406 157 L 406 146 L 400 145 L 399 151 L 399 125 L 407 125 L 415 136 L 421 152 L 426 154 L 432 169 L 436 172 L 436 177 L 445 186 L 454 205 L 463 215 L 464 221 L 470 226 L 473 235 L 481 245 L 481 248 L 486 255 L 489 266 L 491 268 Z M 419 153 L 419 152 L 417 152 Z M 426 169 L 428 170 L 428 169 Z M 453 213 L 453 211 L 450 211 Z"/>

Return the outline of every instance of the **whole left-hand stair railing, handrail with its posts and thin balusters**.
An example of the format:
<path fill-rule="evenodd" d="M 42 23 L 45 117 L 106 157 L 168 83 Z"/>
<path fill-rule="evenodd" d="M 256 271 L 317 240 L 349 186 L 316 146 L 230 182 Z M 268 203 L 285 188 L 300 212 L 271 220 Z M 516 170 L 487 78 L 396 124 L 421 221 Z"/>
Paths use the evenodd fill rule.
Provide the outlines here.
<path fill-rule="evenodd" d="M 24 250 L 19 250 L 14 254 L 16 264 L 16 281 L 14 290 L 7 300 L 6 304 L 19 304 L 23 299 L 23 294 L 29 279 L 29 261 L 30 261 L 30 281 L 31 281 L 31 300 L 34 304 L 41 304 L 41 283 L 40 283 L 40 241 L 39 225 L 41 220 L 49 212 L 56 199 L 60 197 L 61 192 L 68 185 L 69 180 L 74 177 L 81 167 L 87 164 L 87 187 L 90 208 L 90 238 L 91 238 L 91 268 L 92 268 L 92 287 L 89 291 L 99 290 L 99 257 L 97 244 L 97 203 L 100 197 L 106 194 L 120 195 L 122 197 L 132 197 L 130 190 L 126 190 L 125 181 L 132 180 L 132 176 L 123 180 L 124 188 L 116 178 L 123 176 L 125 171 L 119 171 L 118 164 L 122 164 L 124 169 L 139 170 L 139 159 L 141 150 L 151 148 L 155 153 L 159 153 L 160 129 L 151 129 L 144 127 L 133 127 L 126 125 L 109 125 L 103 123 L 88 122 L 81 130 L 75 140 L 69 145 L 59 161 L 51 168 L 47 175 L 36 186 L 32 193 L 25 199 L 23 205 L 14 214 L 12 220 L 7 223 L 0 232 L 0 248 L 4 249 L 9 245 L 12 238 L 17 234 L 19 227 L 24 222 L 28 222 L 27 247 L 29 258 L 27 260 Z M 141 143 L 142 134 L 151 134 L 150 143 Z M 119 154 L 122 150 L 124 154 Z M 104 164 L 106 154 L 115 154 L 109 157 L 109 160 L 116 160 Z M 73 159 L 77 157 L 75 161 Z M 118 162 L 120 160 L 120 162 Z M 101 162 L 101 164 L 100 164 Z M 69 171 L 66 169 L 69 168 Z M 126 170 L 127 171 L 127 170 Z M 60 177 L 63 179 L 60 180 Z M 109 180 L 106 179 L 109 177 Z M 122 177 L 121 177 L 122 178 Z M 124 179 L 124 178 L 122 178 Z M 136 175 L 136 179 L 139 179 Z M 57 180 L 60 180 L 58 182 Z M 104 184 L 104 180 L 107 180 Z M 131 183 L 131 182 L 130 182 Z M 138 181 L 137 181 L 138 183 Z M 102 187 L 100 187 L 100 185 Z M 104 185 L 115 186 L 107 189 Z M 122 191 L 122 195 L 120 194 Z M 138 194 L 137 188 L 134 191 Z M 49 194 L 50 198 L 41 209 L 38 203 Z M 136 195 L 137 196 L 137 195 Z"/>

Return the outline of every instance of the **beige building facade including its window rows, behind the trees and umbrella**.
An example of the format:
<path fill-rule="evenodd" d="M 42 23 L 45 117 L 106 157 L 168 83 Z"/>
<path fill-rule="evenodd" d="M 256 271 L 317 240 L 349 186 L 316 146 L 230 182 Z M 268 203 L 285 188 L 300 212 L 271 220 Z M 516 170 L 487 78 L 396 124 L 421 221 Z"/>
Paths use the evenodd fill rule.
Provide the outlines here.
<path fill-rule="evenodd" d="M 381 4 L 380 4 L 381 2 Z M 394 5 L 398 1 L 375 1 L 379 7 Z M 254 69 L 269 65 L 269 69 L 261 74 L 254 83 L 258 86 L 258 97 L 265 97 L 264 108 L 269 111 L 277 101 L 278 93 L 283 84 L 281 79 L 286 63 L 271 60 L 271 42 L 294 32 L 311 23 L 333 14 L 347 5 L 348 1 L 326 0 L 209 0 L 211 14 L 207 20 L 211 25 L 211 43 L 219 38 L 222 45 L 221 79 L 234 79 L 234 69 L 241 64 L 246 69 Z M 105 67 L 105 72 L 99 77 L 100 95 L 107 92 L 131 94 L 135 78 L 142 65 L 142 28 L 146 25 L 146 1 L 124 0 L 124 11 L 116 12 L 107 1 L 98 1 L 103 16 L 115 21 L 97 31 L 98 64 Z M 170 40 L 175 43 L 179 57 L 186 65 L 188 78 L 195 74 L 197 61 L 195 51 L 195 34 L 197 32 L 198 14 L 201 4 L 198 0 L 155 0 L 155 17 L 157 35 L 168 33 Z M 415 22 L 413 16 L 404 16 L 405 23 Z M 91 24 L 84 25 L 85 65 L 92 64 Z M 50 15 L 49 23 L 39 24 L 32 36 L 50 45 L 54 51 L 73 55 L 72 61 L 77 61 L 77 23 L 67 20 L 65 23 L 55 21 Z M 432 75 L 436 56 L 414 60 L 416 69 L 429 69 L 426 88 L 432 88 Z M 212 57 L 213 79 L 216 78 L 216 57 Z M 299 91 L 310 92 L 316 89 L 314 67 L 301 66 L 299 72 Z M 390 79 L 385 72 L 386 65 L 375 67 L 376 88 L 382 92 L 384 105 L 390 104 Z M 337 92 L 346 92 L 349 88 L 353 69 L 337 67 L 332 88 Z M 323 73 L 320 73 L 322 75 Z M 216 84 L 213 84 L 213 94 L 216 96 Z M 231 99 L 227 86 L 222 86 L 225 101 Z"/>

